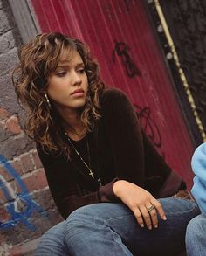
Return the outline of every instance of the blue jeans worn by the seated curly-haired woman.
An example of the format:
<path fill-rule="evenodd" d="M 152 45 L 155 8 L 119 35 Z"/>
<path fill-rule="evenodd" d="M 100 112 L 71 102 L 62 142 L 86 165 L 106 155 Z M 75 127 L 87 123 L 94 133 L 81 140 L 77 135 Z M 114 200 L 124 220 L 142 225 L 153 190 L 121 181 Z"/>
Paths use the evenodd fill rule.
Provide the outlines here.
<path fill-rule="evenodd" d="M 200 213 L 182 198 L 160 199 L 167 220 L 151 231 L 141 228 L 124 204 L 90 204 L 73 211 L 43 235 L 36 256 L 178 255 L 185 249 L 185 232 Z"/>

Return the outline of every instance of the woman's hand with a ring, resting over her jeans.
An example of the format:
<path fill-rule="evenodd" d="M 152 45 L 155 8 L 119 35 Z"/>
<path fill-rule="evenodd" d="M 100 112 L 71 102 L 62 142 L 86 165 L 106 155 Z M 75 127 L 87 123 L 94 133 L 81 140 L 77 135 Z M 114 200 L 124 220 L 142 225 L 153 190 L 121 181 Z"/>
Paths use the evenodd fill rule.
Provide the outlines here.
<path fill-rule="evenodd" d="M 116 181 L 113 184 L 113 193 L 134 212 L 134 216 L 141 227 L 144 227 L 145 222 L 149 230 L 152 229 L 152 225 L 157 228 L 157 213 L 163 220 L 167 219 L 160 202 L 147 190 L 134 183 L 125 180 Z"/>

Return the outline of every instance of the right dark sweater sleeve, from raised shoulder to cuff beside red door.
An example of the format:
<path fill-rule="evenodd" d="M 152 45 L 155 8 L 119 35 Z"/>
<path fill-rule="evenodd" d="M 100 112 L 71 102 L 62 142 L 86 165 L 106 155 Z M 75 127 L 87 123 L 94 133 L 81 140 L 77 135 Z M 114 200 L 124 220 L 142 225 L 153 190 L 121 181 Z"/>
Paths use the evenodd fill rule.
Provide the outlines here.
<path fill-rule="evenodd" d="M 182 178 L 171 170 L 142 132 L 126 94 L 107 89 L 102 112 L 113 152 L 115 176 L 145 188 L 154 197 L 175 194 L 181 188 Z"/>

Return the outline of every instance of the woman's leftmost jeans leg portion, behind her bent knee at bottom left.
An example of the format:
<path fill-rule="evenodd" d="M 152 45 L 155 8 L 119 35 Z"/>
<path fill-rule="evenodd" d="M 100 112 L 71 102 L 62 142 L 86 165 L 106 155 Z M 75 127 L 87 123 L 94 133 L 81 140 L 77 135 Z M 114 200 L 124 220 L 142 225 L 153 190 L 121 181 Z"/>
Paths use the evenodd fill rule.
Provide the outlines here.
<path fill-rule="evenodd" d="M 49 229 L 41 237 L 35 256 L 66 256 L 70 255 L 65 246 L 65 221 Z"/>

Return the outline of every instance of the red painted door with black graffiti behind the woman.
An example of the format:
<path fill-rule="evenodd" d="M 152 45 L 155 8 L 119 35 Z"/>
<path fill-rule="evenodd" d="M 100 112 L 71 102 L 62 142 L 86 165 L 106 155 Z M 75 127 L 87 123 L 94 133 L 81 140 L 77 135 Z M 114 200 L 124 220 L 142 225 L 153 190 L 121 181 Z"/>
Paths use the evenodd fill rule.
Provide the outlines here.
<path fill-rule="evenodd" d="M 191 184 L 194 147 L 143 0 L 31 0 L 42 31 L 90 45 L 103 80 L 134 102 L 166 161 Z"/>

